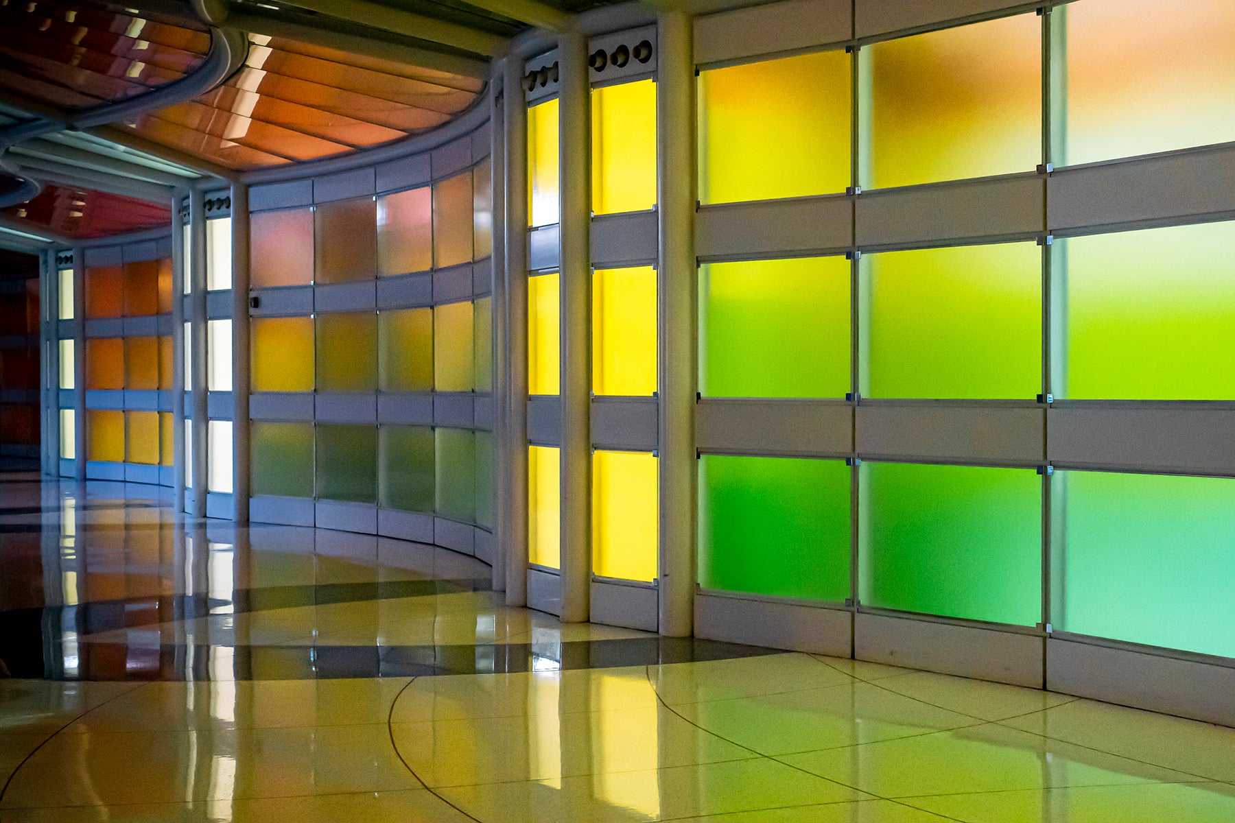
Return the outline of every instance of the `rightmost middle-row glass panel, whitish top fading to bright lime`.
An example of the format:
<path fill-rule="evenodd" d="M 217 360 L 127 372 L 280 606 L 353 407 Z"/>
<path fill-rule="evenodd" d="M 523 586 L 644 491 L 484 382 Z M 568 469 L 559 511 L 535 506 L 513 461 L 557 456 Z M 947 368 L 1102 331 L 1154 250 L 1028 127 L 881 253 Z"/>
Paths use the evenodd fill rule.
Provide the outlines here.
<path fill-rule="evenodd" d="M 1060 241 L 1067 374 L 1060 396 L 1231 400 L 1235 222 Z"/>

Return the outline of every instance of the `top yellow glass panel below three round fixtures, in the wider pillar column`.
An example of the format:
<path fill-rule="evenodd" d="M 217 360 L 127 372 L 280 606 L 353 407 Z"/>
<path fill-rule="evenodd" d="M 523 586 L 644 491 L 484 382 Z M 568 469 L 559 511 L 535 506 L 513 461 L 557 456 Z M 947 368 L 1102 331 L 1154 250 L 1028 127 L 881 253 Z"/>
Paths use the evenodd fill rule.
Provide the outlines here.
<path fill-rule="evenodd" d="M 656 81 L 592 90 L 592 211 L 656 205 Z"/>

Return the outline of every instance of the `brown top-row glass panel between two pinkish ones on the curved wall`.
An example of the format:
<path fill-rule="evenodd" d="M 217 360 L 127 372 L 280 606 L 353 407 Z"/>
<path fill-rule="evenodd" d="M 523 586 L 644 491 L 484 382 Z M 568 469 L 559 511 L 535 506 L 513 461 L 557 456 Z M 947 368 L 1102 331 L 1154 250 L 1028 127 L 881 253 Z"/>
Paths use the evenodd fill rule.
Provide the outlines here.
<path fill-rule="evenodd" d="M 378 270 L 378 216 L 373 197 L 316 206 L 314 281 L 367 280 Z"/>

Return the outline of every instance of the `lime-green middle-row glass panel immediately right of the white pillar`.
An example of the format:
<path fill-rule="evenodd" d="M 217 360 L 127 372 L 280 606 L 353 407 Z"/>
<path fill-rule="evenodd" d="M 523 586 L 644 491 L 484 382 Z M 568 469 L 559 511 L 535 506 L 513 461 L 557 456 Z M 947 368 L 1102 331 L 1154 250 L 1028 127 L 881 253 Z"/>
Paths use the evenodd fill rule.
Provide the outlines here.
<path fill-rule="evenodd" d="M 850 263 L 840 257 L 699 268 L 699 390 L 711 397 L 844 397 Z"/>

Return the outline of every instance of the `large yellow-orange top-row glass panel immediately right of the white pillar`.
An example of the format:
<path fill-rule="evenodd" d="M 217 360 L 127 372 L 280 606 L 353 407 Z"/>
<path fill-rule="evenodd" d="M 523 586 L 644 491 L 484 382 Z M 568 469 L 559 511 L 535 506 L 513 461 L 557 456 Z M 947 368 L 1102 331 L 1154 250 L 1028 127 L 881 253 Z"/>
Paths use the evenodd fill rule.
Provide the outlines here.
<path fill-rule="evenodd" d="M 700 202 L 845 191 L 851 63 L 832 51 L 700 72 Z"/>

